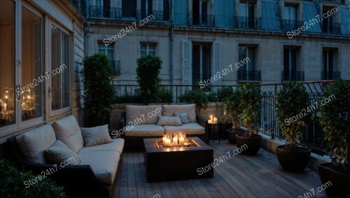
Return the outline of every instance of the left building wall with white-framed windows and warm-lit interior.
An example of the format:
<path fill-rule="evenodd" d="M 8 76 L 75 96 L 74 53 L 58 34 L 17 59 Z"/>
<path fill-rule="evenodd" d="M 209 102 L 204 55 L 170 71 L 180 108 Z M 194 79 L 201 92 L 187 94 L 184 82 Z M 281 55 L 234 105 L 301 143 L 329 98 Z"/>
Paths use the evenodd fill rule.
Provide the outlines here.
<path fill-rule="evenodd" d="M 69 0 L 0 1 L 0 158 L 9 136 L 69 114 L 82 122 L 85 7 Z"/>

